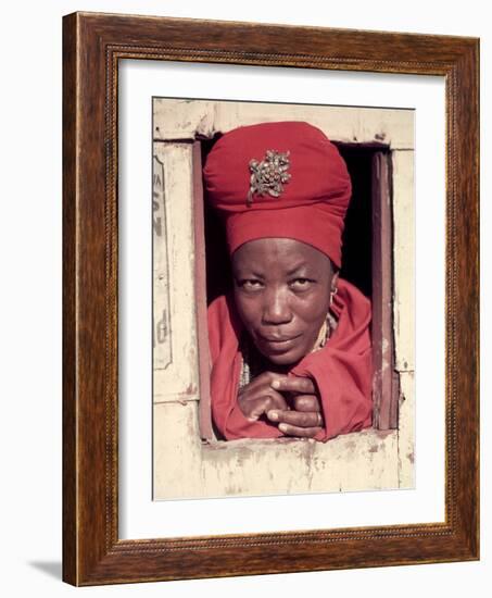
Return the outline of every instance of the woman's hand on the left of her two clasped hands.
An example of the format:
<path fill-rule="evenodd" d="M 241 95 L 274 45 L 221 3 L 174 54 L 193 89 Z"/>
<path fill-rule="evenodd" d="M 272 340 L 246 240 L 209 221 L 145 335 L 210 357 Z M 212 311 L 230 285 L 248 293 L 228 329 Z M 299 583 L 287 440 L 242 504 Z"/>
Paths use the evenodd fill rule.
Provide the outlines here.
<path fill-rule="evenodd" d="M 283 383 L 286 379 L 286 375 L 276 374 L 274 372 L 263 372 L 263 374 L 254 378 L 250 384 L 243 386 L 238 394 L 238 403 L 243 415 L 250 420 L 250 422 L 255 422 L 263 414 L 272 410 L 288 413 L 289 406 L 286 399 L 273 386 L 277 382 Z"/>

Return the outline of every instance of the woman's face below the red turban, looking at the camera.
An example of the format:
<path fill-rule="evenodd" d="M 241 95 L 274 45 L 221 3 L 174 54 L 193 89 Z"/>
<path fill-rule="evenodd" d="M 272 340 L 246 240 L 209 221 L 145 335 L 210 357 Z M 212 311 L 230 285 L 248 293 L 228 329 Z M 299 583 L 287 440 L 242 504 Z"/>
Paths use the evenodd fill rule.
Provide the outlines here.
<path fill-rule="evenodd" d="M 336 284 L 325 253 L 294 239 L 255 239 L 232 254 L 239 315 L 258 351 L 291 365 L 313 349 Z"/>

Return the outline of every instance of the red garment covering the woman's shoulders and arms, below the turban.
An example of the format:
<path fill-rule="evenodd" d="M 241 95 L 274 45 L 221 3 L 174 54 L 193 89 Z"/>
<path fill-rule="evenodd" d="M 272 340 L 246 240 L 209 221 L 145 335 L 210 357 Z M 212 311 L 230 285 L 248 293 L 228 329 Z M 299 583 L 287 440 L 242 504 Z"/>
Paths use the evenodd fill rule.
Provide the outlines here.
<path fill-rule="evenodd" d="M 338 326 L 323 349 L 305 356 L 289 375 L 312 378 L 319 391 L 325 427 L 316 440 L 358 432 L 371 425 L 373 364 L 370 302 L 353 285 L 339 281 L 332 311 Z M 228 440 L 285 436 L 266 420 L 250 422 L 238 404 L 243 326 L 232 297 L 218 297 L 209 307 L 212 360 L 211 395 L 215 425 Z"/>

